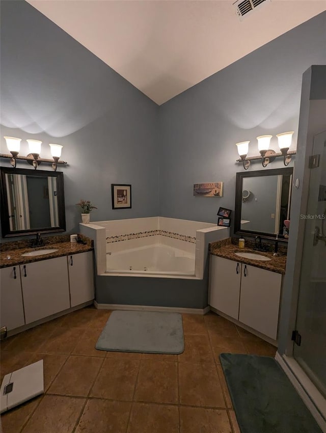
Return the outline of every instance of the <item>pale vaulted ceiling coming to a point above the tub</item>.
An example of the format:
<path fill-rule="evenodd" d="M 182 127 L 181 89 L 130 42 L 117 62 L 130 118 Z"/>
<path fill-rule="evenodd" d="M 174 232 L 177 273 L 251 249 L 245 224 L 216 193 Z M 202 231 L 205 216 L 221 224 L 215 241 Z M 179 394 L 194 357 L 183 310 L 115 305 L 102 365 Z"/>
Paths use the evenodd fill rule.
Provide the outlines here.
<path fill-rule="evenodd" d="M 27 1 L 159 105 L 326 10 L 266 0 L 240 20 L 234 0 Z"/>

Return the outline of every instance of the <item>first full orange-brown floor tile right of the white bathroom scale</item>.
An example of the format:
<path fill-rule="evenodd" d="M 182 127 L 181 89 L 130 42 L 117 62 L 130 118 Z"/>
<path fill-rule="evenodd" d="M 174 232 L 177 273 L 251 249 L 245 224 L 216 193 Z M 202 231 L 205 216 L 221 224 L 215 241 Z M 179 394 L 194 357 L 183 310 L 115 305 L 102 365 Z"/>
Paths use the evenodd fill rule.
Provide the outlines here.
<path fill-rule="evenodd" d="M 103 358 L 70 356 L 48 393 L 86 397 L 102 363 Z"/>

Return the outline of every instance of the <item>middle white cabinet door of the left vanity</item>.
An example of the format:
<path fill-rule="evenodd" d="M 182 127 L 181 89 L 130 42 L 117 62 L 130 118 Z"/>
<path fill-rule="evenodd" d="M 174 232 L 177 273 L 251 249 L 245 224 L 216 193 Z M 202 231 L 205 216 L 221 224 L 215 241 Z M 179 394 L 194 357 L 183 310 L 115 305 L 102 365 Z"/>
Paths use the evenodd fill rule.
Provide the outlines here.
<path fill-rule="evenodd" d="M 70 308 L 67 256 L 20 265 L 26 323 Z"/>

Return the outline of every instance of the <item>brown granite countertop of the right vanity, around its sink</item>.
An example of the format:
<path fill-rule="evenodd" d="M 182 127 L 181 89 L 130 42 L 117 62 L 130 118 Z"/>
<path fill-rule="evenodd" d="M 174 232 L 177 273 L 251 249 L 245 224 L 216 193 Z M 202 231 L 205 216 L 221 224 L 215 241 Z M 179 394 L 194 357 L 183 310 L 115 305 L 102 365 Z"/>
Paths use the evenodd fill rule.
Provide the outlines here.
<path fill-rule="evenodd" d="M 245 257 L 236 256 L 237 252 L 248 252 L 261 254 L 262 256 L 269 257 L 268 261 L 252 260 Z M 209 245 L 209 253 L 213 256 L 223 257 L 225 259 L 234 260 L 240 263 L 250 264 L 252 266 L 260 267 L 262 269 L 271 270 L 278 274 L 285 274 L 286 265 L 286 252 L 281 251 L 279 256 L 273 256 L 271 252 L 260 252 L 255 251 L 252 248 L 242 248 L 240 249 L 237 245 L 232 243 L 231 238 L 223 239 L 218 242 L 212 242 Z"/>

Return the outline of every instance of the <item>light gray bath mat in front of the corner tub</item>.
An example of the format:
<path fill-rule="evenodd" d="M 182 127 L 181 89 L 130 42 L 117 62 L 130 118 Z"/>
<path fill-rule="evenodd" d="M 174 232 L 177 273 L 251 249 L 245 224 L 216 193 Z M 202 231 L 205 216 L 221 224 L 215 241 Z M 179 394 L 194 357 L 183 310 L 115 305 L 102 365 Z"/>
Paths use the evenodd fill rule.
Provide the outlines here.
<path fill-rule="evenodd" d="M 181 354 L 184 350 L 179 313 L 113 311 L 96 349 L 152 354 Z"/>

